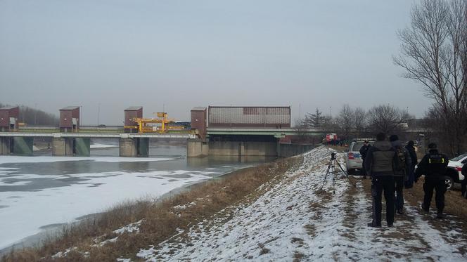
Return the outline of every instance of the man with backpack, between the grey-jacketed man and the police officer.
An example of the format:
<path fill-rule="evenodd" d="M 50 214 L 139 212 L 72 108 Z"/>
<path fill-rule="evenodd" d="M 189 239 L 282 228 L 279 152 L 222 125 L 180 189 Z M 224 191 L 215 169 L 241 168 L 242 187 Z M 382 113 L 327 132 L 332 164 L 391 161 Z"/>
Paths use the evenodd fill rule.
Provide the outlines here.
<path fill-rule="evenodd" d="M 399 215 L 404 214 L 404 182 L 407 181 L 409 168 L 412 165 L 409 152 L 402 147 L 402 142 L 397 135 L 389 137 L 392 150 L 396 152 L 394 159 L 394 181 L 396 190 L 396 212 Z"/>

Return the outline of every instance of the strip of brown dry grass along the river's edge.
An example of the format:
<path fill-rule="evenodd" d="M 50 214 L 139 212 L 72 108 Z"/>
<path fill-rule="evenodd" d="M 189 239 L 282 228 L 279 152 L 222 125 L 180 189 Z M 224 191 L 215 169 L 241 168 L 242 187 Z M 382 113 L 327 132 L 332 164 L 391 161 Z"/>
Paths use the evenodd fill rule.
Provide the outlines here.
<path fill-rule="evenodd" d="M 301 157 L 281 159 L 274 163 L 235 171 L 224 179 L 193 186 L 186 192 L 162 201 L 145 199 L 119 204 L 110 211 L 64 228 L 58 237 L 49 238 L 41 247 L 11 251 L 2 256 L 0 261 L 82 261 L 85 258 L 84 254 L 87 261 L 115 261 L 116 258 L 122 257 L 136 259 L 139 249 L 157 245 L 176 235 L 177 230 L 186 231 L 191 225 L 209 218 L 225 207 L 245 199 L 257 198 L 267 190 L 257 188 L 265 183 L 279 182 L 288 169 L 298 166 L 301 162 Z M 196 204 L 187 205 L 192 202 Z M 186 205 L 186 208 L 174 208 L 182 205 Z M 139 232 L 125 232 L 121 235 L 113 232 L 141 219 L 143 221 Z M 103 246 L 97 244 L 116 236 L 118 239 L 115 242 L 108 242 Z M 65 257 L 52 257 L 58 251 L 70 248 L 75 249 L 69 251 Z"/>

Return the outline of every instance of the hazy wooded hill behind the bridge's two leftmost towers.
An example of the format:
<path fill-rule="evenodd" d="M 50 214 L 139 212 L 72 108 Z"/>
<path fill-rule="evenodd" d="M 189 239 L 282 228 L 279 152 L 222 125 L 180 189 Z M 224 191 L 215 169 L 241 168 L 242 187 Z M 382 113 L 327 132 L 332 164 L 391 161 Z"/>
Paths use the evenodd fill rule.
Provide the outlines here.
<path fill-rule="evenodd" d="M 0 103 L 0 107 L 10 105 Z M 20 115 L 18 122 L 25 123 L 27 126 L 58 126 L 59 119 L 55 114 L 49 114 L 42 110 L 20 105 Z"/>

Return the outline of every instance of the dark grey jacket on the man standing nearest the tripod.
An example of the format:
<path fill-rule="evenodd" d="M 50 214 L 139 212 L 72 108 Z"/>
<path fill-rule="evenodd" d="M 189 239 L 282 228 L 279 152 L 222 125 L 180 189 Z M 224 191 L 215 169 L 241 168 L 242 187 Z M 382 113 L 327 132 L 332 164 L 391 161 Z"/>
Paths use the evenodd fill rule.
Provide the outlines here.
<path fill-rule="evenodd" d="M 365 169 L 371 176 L 392 176 L 395 152 L 389 141 L 376 141 L 366 152 Z"/>

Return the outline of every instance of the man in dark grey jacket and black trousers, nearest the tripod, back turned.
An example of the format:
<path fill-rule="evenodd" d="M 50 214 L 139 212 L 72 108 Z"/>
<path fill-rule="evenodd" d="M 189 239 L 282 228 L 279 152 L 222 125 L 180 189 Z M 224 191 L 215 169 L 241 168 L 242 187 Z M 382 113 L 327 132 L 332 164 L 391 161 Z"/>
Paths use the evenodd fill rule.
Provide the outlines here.
<path fill-rule="evenodd" d="M 368 226 L 381 227 L 382 195 L 386 200 L 386 222 L 391 227 L 394 223 L 394 157 L 391 143 L 385 140 L 384 133 L 376 135 L 376 142 L 366 152 L 365 169 L 371 175 L 371 196 L 373 197 L 373 221 Z"/>

